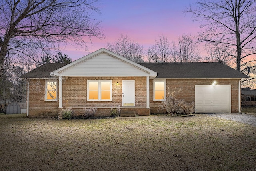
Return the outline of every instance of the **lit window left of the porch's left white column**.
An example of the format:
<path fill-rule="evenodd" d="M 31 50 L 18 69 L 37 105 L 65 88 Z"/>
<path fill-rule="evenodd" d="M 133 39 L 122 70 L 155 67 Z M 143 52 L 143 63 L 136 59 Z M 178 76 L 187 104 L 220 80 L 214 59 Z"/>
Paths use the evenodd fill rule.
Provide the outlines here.
<path fill-rule="evenodd" d="M 55 80 L 45 81 L 44 101 L 57 101 L 57 82 Z"/>

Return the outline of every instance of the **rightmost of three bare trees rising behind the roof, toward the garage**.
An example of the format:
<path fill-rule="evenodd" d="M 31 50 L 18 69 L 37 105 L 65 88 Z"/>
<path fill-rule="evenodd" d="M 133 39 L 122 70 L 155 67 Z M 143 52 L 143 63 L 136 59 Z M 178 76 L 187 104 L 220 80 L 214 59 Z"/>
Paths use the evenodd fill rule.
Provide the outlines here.
<path fill-rule="evenodd" d="M 198 44 L 193 42 L 191 35 L 183 34 L 178 44 L 172 42 L 172 62 L 198 62 L 202 56 Z"/>

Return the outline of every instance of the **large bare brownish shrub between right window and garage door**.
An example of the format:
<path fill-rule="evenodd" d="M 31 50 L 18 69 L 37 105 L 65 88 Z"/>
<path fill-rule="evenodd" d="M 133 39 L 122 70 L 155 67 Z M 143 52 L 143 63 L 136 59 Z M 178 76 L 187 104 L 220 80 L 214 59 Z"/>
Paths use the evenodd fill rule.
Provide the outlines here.
<path fill-rule="evenodd" d="M 194 112 L 194 102 L 188 103 L 184 99 L 176 99 L 176 95 L 180 93 L 180 90 L 168 92 L 166 99 L 162 100 L 162 107 L 166 109 L 170 115 L 188 115 Z"/>

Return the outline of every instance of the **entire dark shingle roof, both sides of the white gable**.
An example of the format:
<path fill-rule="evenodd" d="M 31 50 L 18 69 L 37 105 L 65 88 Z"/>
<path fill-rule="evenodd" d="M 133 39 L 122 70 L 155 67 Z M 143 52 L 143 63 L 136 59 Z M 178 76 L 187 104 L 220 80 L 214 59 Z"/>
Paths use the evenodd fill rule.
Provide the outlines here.
<path fill-rule="evenodd" d="M 156 78 L 246 78 L 245 74 L 220 62 L 194 63 L 138 63 L 157 72 Z M 53 78 L 50 72 L 65 66 L 65 63 L 48 63 L 20 78 Z"/>

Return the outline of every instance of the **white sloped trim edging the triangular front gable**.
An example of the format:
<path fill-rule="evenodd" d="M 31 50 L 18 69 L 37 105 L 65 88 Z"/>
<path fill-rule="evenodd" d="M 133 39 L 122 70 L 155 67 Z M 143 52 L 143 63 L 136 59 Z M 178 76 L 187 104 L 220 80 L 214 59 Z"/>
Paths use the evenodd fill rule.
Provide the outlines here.
<path fill-rule="evenodd" d="M 62 75 L 62 72 L 64 72 L 65 70 L 68 70 L 69 68 L 74 67 L 74 66 L 76 66 L 76 65 L 78 65 L 78 64 L 80 64 L 80 63 L 82 63 L 86 60 L 91 59 L 91 58 L 94 58 L 95 56 L 98 56 L 99 54 L 102 54 L 104 52 L 106 54 L 112 56 L 113 58 L 117 58 L 118 60 L 121 60 L 122 62 L 125 62 L 126 64 L 132 65 L 132 66 L 138 68 L 139 70 L 144 71 L 145 72 L 144 76 L 147 75 L 147 76 L 150 76 L 150 78 L 155 78 L 157 76 L 157 73 L 154 72 L 153 70 L 150 70 L 150 69 L 148 69 L 144 66 L 141 66 L 140 64 L 137 64 L 136 62 L 132 62 L 132 61 L 130 61 L 130 60 L 118 55 L 118 54 L 115 54 L 115 53 L 113 53 L 109 50 L 106 50 L 105 48 L 101 48 L 101 49 L 99 49 L 95 52 L 92 52 L 91 54 L 88 54 L 88 55 L 86 55 L 82 58 L 79 58 L 78 60 L 76 60 L 74 62 L 71 62 L 70 64 L 67 64 L 66 66 L 63 66 L 63 67 L 51 72 L 50 74 L 55 75 L 55 76 L 64 76 L 64 75 Z"/>

